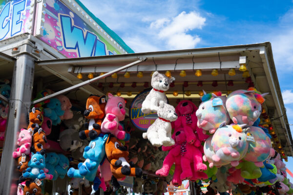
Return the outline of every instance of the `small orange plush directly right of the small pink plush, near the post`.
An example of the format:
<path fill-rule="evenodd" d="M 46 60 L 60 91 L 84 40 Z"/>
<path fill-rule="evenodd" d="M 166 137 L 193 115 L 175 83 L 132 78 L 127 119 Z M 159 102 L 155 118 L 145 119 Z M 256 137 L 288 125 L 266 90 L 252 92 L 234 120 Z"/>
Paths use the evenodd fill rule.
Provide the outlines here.
<path fill-rule="evenodd" d="M 50 146 L 47 143 L 47 137 L 46 134 L 42 131 L 42 128 L 34 130 L 34 135 L 33 135 L 33 151 L 34 153 L 40 152 L 42 154 L 45 152 L 44 148 L 49 148 Z M 46 145 L 46 146 L 45 146 Z"/>

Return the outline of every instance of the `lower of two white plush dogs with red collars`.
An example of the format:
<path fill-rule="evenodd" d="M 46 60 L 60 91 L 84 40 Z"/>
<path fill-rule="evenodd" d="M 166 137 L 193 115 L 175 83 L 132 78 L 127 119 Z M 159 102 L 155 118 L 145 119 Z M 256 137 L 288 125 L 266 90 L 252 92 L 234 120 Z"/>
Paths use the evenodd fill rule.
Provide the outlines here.
<path fill-rule="evenodd" d="M 171 122 L 175 121 L 178 115 L 172 105 L 160 101 L 157 111 L 158 118 L 150 125 L 143 137 L 148 139 L 153 146 L 172 146 L 175 144 L 171 137 Z"/>

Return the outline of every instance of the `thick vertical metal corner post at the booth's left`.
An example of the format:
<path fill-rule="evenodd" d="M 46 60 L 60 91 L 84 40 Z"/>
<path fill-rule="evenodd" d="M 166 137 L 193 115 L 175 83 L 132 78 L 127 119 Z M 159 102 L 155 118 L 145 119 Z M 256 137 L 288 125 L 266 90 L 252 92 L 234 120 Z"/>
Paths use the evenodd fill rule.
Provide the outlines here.
<path fill-rule="evenodd" d="M 15 62 L 9 100 L 7 126 L 0 165 L 0 195 L 16 195 L 17 180 L 20 172 L 16 171 L 16 161 L 12 152 L 16 148 L 18 132 L 27 128 L 27 112 L 31 104 L 35 63 L 31 56 L 22 54 Z"/>

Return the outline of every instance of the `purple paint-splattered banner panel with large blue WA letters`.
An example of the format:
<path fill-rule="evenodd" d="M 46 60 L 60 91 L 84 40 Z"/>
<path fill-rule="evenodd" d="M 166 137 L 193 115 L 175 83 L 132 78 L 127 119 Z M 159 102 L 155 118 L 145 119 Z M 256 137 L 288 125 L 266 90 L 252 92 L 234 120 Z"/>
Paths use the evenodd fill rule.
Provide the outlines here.
<path fill-rule="evenodd" d="M 46 0 L 42 22 L 40 39 L 67 58 L 121 54 L 60 0 Z"/>

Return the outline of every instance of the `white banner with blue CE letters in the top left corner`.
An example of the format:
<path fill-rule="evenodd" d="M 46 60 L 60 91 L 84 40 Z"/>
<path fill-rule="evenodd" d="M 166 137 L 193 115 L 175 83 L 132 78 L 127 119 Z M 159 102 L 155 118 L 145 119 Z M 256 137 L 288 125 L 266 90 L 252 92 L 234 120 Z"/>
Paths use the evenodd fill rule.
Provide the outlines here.
<path fill-rule="evenodd" d="M 31 0 L 0 0 L 0 40 L 31 32 Z"/>

